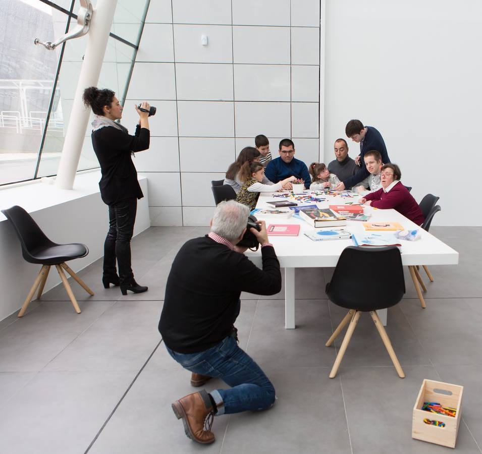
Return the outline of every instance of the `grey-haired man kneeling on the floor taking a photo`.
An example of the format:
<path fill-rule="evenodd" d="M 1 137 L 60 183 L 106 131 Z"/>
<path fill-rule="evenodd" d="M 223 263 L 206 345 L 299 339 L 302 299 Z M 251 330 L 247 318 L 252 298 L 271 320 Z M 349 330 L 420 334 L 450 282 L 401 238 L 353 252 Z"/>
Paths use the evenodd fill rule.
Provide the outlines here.
<path fill-rule="evenodd" d="M 280 263 L 264 221 L 257 223 L 259 231 L 249 227 L 261 244 L 262 269 L 242 254 L 246 247 L 236 246 L 249 226 L 248 215 L 246 205 L 221 202 L 210 233 L 189 240 L 179 250 L 166 285 L 159 332 L 169 354 L 192 372 L 193 386 L 211 377 L 231 386 L 209 393 L 203 389 L 172 404 L 186 435 L 199 443 L 215 441 L 213 415 L 266 410 L 275 402 L 273 384 L 238 347 L 233 325 L 241 292 L 274 295 L 281 290 Z"/>

